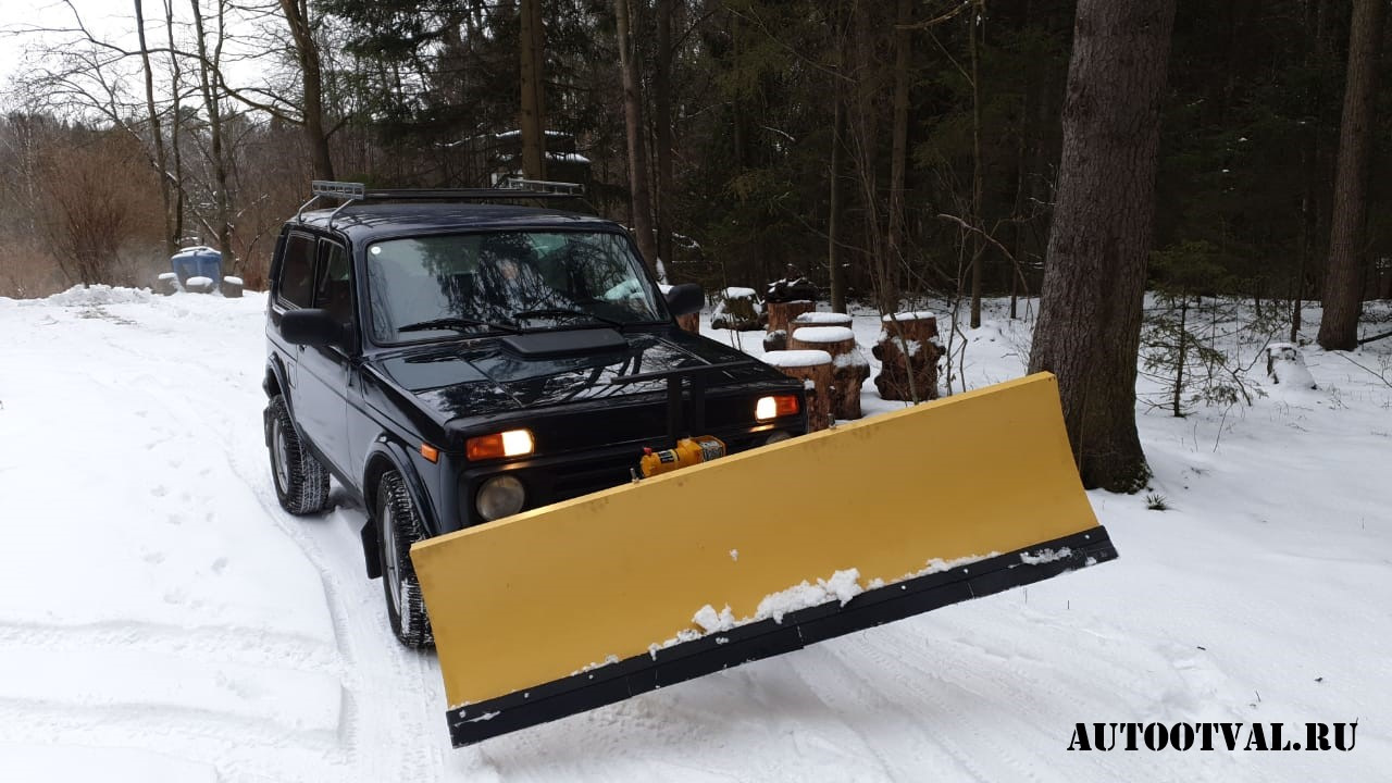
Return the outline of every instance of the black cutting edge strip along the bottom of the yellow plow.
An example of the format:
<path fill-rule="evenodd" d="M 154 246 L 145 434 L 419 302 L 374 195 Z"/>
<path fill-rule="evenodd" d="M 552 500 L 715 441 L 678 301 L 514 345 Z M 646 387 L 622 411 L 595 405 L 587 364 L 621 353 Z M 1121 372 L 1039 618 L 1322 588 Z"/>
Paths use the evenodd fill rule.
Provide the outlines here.
<path fill-rule="evenodd" d="M 1068 555 L 1058 556 L 1063 549 Z M 1054 557 L 1048 557 L 1050 553 Z M 472 745 L 731 666 L 1115 559 L 1116 549 L 1107 529 L 1098 525 L 1008 555 L 869 589 L 844 606 L 832 602 L 791 612 L 782 623 L 760 620 L 526 691 L 457 706 L 445 713 L 450 740 L 455 747 Z"/>

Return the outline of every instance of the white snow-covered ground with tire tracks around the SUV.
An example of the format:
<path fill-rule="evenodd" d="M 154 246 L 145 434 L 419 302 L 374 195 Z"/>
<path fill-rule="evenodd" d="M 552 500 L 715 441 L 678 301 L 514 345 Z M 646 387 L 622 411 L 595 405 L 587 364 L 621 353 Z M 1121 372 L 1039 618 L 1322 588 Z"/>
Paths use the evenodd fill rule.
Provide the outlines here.
<path fill-rule="evenodd" d="M 1093 493 L 1116 563 L 452 751 L 433 656 L 397 645 L 362 574 L 363 511 L 341 495 L 322 518 L 276 504 L 263 307 L 102 288 L 0 300 L 0 780 L 1392 768 L 1392 386 L 1343 357 L 1304 350 L 1314 392 L 1264 383 L 1250 408 L 1143 415 L 1171 510 Z M 973 387 L 1025 369 L 1029 326 L 988 313 L 966 333 Z M 855 329 L 869 348 L 878 323 Z M 759 333 L 739 337 L 760 352 Z M 1392 379 L 1389 343 L 1353 359 Z M 869 412 L 898 405 L 864 390 Z M 1079 722 L 1353 720 L 1350 752 L 1068 750 Z"/>

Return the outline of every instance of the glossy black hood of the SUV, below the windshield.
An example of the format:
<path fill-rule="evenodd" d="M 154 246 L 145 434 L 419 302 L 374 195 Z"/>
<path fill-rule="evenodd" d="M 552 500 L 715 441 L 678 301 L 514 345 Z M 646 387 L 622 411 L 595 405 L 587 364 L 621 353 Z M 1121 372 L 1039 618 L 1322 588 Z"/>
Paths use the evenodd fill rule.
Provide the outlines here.
<path fill-rule="evenodd" d="M 496 415 L 568 403 L 599 401 L 663 392 L 663 379 L 625 385 L 615 378 L 661 372 L 681 366 L 722 364 L 749 357 L 686 333 L 619 334 L 604 330 L 594 350 L 576 348 L 561 355 L 518 350 L 508 340 L 489 339 L 432 346 L 372 362 L 397 386 L 411 392 L 438 418 Z M 724 380 L 767 378 L 757 362 L 736 368 Z"/>

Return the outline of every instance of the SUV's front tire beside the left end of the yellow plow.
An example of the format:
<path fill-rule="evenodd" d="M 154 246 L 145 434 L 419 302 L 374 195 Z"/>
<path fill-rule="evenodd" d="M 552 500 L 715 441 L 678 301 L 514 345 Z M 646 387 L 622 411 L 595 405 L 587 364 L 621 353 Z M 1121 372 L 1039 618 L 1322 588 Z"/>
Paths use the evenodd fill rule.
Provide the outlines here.
<path fill-rule="evenodd" d="M 397 471 L 381 476 L 377 488 L 377 552 L 381 553 L 381 588 L 387 598 L 391 633 L 405 646 L 422 649 L 434 645 L 430 617 L 426 614 L 420 581 L 411 563 L 411 545 L 425 538 L 420 511 Z"/>

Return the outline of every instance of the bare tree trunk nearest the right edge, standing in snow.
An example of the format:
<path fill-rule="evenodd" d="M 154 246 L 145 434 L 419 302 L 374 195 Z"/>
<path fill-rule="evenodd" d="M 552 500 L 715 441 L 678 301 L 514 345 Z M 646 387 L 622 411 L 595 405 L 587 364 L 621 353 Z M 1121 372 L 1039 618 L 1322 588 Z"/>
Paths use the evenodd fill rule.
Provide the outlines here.
<path fill-rule="evenodd" d="M 1349 28 L 1349 78 L 1339 124 L 1339 170 L 1334 183 L 1334 227 L 1329 231 L 1329 269 L 1324 279 L 1324 316 L 1320 347 L 1352 351 L 1359 347 L 1363 274 L 1367 266 L 1368 162 L 1373 153 L 1378 43 L 1382 40 L 1385 0 L 1354 0 Z"/>

